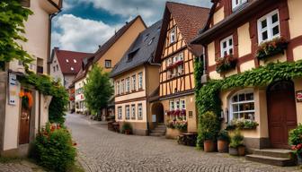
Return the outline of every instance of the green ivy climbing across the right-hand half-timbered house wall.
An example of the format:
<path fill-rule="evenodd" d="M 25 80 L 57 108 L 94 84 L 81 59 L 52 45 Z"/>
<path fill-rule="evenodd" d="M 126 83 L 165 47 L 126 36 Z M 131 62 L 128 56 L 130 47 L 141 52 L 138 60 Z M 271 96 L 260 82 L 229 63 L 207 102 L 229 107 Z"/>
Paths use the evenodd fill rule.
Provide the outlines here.
<path fill-rule="evenodd" d="M 202 71 L 196 73 L 198 75 L 195 77 L 200 76 Z M 244 73 L 232 75 L 224 80 L 211 80 L 199 90 L 196 90 L 196 103 L 199 109 L 199 116 L 204 115 L 208 111 L 212 111 L 217 116 L 220 116 L 221 100 L 219 94 L 221 90 L 248 86 L 267 86 L 271 82 L 292 80 L 298 77 L 302 77 L 302 60 L 297 62 L 271 63 Z M 203 142 L 200 135 L 199 130 L 198 147 L 202 147 Z"/>

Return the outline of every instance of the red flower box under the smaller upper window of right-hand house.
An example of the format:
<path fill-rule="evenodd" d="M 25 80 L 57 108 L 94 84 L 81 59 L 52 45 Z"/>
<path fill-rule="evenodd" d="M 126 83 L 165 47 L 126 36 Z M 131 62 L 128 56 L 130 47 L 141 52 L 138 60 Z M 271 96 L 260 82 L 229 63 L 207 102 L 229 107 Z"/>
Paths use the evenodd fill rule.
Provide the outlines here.
<path fill-rule="evenodd" d="M 218 73 L 224 73 L 231 69 L 235 69 L 237 64 L 237 58 L 233 55 L 227 55 L 216 60 L 216 71 Z"/>

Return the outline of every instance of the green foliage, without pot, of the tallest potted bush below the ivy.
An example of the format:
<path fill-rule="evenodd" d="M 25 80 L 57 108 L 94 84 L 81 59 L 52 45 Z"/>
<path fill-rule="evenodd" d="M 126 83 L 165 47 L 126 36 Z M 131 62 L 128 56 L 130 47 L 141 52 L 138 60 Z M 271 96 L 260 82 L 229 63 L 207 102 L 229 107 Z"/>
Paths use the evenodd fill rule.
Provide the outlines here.
<path fill-rule="evenodd" d="M 206 140 L 215 140 L 218 136 L 219 128 L 220 124 L 218 116 L 213 112 L 206 112 L 200 116 L 199 137 L 202 142 Z"/>

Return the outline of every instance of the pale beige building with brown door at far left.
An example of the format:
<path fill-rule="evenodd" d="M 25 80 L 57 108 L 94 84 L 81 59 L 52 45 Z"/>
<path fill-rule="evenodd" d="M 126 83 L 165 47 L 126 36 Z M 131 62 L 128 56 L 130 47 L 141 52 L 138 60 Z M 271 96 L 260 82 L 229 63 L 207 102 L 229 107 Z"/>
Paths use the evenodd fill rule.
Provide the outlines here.
<path fill-rule="evenodd" d="M 50 30 L 49 21 L 52 14 L 58 13 L 62 7 L 61 0 L 25 0 L 22 4 L 34 13 L 25 22 L 26 43 L 22 47 L 33 58 L 30 69 L 34 73 L 47 74 L 49 57 Z M 0 154 L 2 156 L 26 155 L 29 143 L 41 125 L 49 120 L 48 96 L 41 95 L 31 86 L 22 85 L 18 77 L 24 73 L 23 65 L 12 61 L 0 72 Z M 7 81 L 9 81 L 7 83 Z M 31 94 L 32 107 L 24 110 L 19 93 L 26 91 Z"/>

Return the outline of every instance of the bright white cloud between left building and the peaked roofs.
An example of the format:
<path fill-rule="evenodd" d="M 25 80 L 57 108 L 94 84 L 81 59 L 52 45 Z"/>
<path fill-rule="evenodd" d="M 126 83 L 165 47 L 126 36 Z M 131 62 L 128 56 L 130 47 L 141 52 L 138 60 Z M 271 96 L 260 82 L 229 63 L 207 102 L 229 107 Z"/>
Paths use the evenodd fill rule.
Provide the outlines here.
<path fill-rule="evenodd" d="M 72 14 L 58 16 L 53 23 L 57 31 L 52 33 L 52 47 L 84 52 L 94 52 L 120 28 Z"/>

